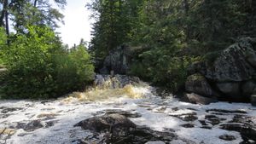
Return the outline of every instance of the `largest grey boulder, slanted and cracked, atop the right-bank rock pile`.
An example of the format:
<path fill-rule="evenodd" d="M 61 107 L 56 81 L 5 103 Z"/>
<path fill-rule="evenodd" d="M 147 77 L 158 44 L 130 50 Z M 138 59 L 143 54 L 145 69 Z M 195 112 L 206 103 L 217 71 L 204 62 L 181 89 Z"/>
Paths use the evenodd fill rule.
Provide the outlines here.
<path fill-rule="evenodd" d="M 242 38 L 214 55 L 212 62 L 196 63 L 192 66 L 207 79 L 217 82 L 241 82 L 252 78 L 255 73 L 256 54 L 253 44 L 255 39 Z"/>

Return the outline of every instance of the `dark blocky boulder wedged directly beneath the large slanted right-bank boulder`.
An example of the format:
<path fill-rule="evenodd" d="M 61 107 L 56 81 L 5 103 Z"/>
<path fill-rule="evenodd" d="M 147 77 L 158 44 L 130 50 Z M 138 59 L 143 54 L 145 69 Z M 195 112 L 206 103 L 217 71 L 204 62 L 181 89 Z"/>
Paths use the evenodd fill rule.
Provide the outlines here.
<path fill-rule="evenodd" d="M 227 83 L 217 83 L 216 85 L 217 85 L 218 89 L 222 93 L 224 93 L 224 95 L 228 95 L 228 96 L 234 97 L 234 98 L 241 96 L 239 83 L 227 82 Z"/>

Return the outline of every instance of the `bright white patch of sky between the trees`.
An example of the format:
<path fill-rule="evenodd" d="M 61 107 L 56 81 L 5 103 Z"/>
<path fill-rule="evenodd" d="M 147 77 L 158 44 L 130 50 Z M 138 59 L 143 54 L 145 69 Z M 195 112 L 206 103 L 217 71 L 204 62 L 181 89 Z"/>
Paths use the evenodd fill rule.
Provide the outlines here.
<path fill-rule="evenodd" d="M 85 8 L 86 3 L 90 0 L 67 0 L 67 6 L 61 13 L 65 15 L 65 25 L 57 30 L 63 43 L 73 46 L 79 44 L 80 39 L 90 42 L 91 22 L 90 10 Z"/>

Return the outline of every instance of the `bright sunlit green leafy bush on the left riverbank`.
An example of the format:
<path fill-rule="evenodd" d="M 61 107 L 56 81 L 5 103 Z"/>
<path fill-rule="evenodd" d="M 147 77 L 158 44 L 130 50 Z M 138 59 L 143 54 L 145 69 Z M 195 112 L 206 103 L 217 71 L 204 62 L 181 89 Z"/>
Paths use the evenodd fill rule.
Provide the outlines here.
<path fill-rule="evenodd" d="M 48 27 L 28 30 L 2 49 L 8 69 L 2 98 L 55 98 L 90 83 L 94 68 L 84 47 L 68 52 Z"/>

